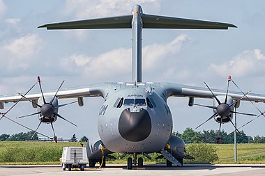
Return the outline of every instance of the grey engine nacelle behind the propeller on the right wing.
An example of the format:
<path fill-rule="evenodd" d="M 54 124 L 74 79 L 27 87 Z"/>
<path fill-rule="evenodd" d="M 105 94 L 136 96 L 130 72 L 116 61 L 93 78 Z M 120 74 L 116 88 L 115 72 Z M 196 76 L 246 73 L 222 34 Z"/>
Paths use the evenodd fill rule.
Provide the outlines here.
<path fill-rule="evenodd" d="M 224 103 L 225 102 L 225 95 L 217 95 L 216 98 L 219 99 L 219 101 L 221 103 Z M 230 104 L 233 104 L 234 103 L 234 99 L 232 99 L 232 97 L 230 97 L 229 95 L 227 95 L 227 104 L 230 105 Z M 218 102 L 216 101 L 216 99 L 213 99 L 213 106 L 217 107 L 219 104 Z M 230 106 L 230 111 L 234 111 L 234 106 Z M 216 113 L 217 110 L 216 109 L 213 109 L 213 113 Z M 233 113 L 229 113 L 229 115 L 225 116 L 225 117 L 222 117 L 222 124 L 224 123 L 227 123 L 227 122 L 230 122 L 230 120 L 233 119 Z M 215 116 L 214 120 L 218 123 L 221 122 L 221 116 L 220 115 L 217 115 Z"/>

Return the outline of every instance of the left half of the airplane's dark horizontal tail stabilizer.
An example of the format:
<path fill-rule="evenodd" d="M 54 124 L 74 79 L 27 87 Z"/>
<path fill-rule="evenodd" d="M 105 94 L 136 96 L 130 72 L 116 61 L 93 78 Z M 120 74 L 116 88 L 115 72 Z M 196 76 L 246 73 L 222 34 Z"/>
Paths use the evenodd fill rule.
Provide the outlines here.
<path fill-rule="evenodd" d="M 45 24 L 47 29 L 124 29 L 132 27 L 132 15 Z"/>

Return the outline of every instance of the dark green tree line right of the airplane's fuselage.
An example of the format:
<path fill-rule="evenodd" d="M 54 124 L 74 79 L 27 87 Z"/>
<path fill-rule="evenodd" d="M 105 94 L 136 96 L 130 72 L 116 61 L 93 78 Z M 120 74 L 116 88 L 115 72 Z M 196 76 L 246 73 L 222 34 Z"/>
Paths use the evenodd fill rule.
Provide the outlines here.
<path fill-rule="evenodd" d="M 204 130 L 195 131 L 192 128 L 186 128 L 182 134 L 179 132 L 173 132 L 173 135 L 183 138 L 185 142 L 188 143 L 234 143 L 234 132 L 227 134 L 227 132 L 222 129 L 222 131 Z M 247 136 L 245 132 L 236 132 L 236 142 L 237 143 L 265 143 L 264 136 Z"/>

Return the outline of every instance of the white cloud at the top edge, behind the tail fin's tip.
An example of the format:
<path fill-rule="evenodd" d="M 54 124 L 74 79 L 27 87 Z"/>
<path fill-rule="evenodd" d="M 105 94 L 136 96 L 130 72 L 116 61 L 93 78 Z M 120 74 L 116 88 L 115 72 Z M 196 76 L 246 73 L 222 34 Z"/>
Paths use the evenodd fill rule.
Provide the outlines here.
<path fill-rule="evenodd" d="M 63 15 L 75 15 L 79 19 L 128 15 L 132 6 L 137 3 L 141 4 L 143 10 L 149 13 L 155 13 L 160 10 L 160 1 L 156 0 L 68 0 L 66 1 Z"/>

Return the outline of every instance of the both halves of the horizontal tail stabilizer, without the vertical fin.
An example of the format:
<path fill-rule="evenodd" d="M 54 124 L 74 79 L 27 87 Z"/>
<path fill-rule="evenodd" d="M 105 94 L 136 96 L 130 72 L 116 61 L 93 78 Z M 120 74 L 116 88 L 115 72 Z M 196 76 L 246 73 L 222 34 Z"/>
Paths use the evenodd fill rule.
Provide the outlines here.
<path fill-rule="evenodd" d="M 234 24 L 142 14 L 145 29 L 228 29 Z M 45 24 L 47 29 L 131 29 L 132 15 Z"/>

